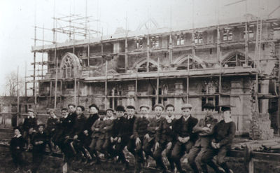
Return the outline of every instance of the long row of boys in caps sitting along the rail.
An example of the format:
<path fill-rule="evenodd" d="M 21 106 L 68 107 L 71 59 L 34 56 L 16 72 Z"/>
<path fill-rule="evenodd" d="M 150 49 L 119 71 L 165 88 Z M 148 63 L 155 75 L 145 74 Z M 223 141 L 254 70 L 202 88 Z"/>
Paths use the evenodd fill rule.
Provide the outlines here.
<path fill-rule="evenodd" d="M 46 133 L 40 130 L 44 125 L 38 125 L 39 132 L 31 137 L 35 150 L 32 172 L 36 172 L 41 164 L 38 157 L 41 157 L 45 145 L 49 144 L 52 148 L 50 141 L 64 153 L 64 162 L 69 167 L 73 158 L 90 165 L 98 164 L 99 153 L 103 153 L 106 160 L 122 162 L 125 171 L 129 167 L 124 153 L 127 146 L 127 151 L 134 155 L 134 171 L 137 173 L 143 172 L 144 165 L 148 165 L 148 158 L 155 160 L 160 172 L 168 172 L 162 159 L 163 151 L 171 172 L 175 172 L 175 169 L 180 173 L 185 172 L 181 167 L 181 158 L 186 153 L 188 164 L 195 173 L 207 173 L 207 165 L 216 172 L 232 172 L 225 163 L 225 155 L 235 137 L 230 106 L 222 107 L 223 120 L 220 122 L 213 116 L 214 105 L 209 103 L 203 106 L 205 117 L 200 120 L 191 115 L 191 104 L 181 106 L 179 118 L 175 118 L 175 106 L 172 104 L 155 104 L 155 116 L 149 115 L 151 108 L 145 104 L 139 106 L 140 112 L 137 115 L 132 105 L 126 109 L 121 105 L 116 106 L 116 117 L 113 109 L 99 110 L 96 104 L 89 108 L 88 118 L 83 114 L 85 108 L 74 104 L 69 104 L 68 109 L 62 109 L 61 118 L 57 118 L 53 110 L 49 111 Z M 167 116 L 162 115 L 164 112 Z M 216 162 L 213 160 L 215 155 Z"/>

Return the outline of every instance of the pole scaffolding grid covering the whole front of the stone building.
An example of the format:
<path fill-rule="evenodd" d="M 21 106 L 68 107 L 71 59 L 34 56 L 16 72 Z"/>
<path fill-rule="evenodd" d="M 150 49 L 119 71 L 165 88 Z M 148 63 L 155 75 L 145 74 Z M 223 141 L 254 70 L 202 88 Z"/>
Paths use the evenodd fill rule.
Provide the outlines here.
<path fill-rule="evenodd" d="M 194 1 L 193 1 L 194 2 Z M 127 19 L 126 19 L 127 20 Z M 55 70 L 55 78 L 49 78 L 49 81 L 50 81 L 50 99 L 52 98 L 52 85 L 53 85 L 53 81 L 55 81 L 55 105 L 54 105 L 54 108 L 56 108 L 56 105 L 57 105 L 57 88 L 59 88 L 57 86 L 57 83 L 60 81 L 60 90 L 62 90 L 62 79 L 58 79 L 57 77 L 57 74 L 59 73 L 59 67 L 58 67 L 58 60 L 57 60 L 57 43 L 59 41 L 57 41 L 57 33 L 59 34 L 64 34 L 66 35 L 66 37 L 69 39 L 69 41 L 73 41 L 73 44 L 71 46 L 67 46 L 67 48 L 72 48 L 72 53 L 75 53 L 75 48 L 76 48 L 76 44 L 75 44 L 75 41 L 76 39 L 87 39 L 87 64 L 89 65 L 90 64 L 90 44 L 91 44 L 91 41 L 90 41 L 90 38 L 91 36 L 97 36 L 98 34 L 102 34 L 101 32 L 98 32 L 97 30 L 94 30 L 94 29 L 90 29 L 90 26 L 88 25 L 89 22 L 99 22 L 99 20 L 92 20 L 90 19 L 90 17 L 87 17 L 85 15 L 85 17 L 81 16 L 81 15 L 66 15 L 66 16 L 63 16 L 63 17 L 60 17 L 60 18 L 57 18 L 54 16 L 53 18 L 53 23 L 54 23 L 54 26 L 52 29 L 46 29 L 44 26 L 43 27 L 34 27 L 34 46 L 36 46 L 36 41 L 42 41 L 42 44 L 44 45 L 44 43 L 52 43 L 55 47 L 54 47 L 54 53 L 55 53 L 55 61 L 52 61 L 52 62 L 48 62 L 48 61 L 45 61 L 44 60 L 44 56 L 43 54 L 44 53 L 47 53 L 45 51 L 45 48 L 44 46 L 42 46 L 41 50 L 36 50 L 34 51 L 34 75 L 31 76 L 33 78 L 33 81 L 29 81 L 31 83 L 34 84 L 34 87 L 32 88 L 32 90 L 34 91 L 34 103 L 36 104 L 36 97 L 37 97 L 37 93 L 38 93 L 38 89 L 36 87 L 36 83 L 38 83 L 39 79 L 43 79 L 44 78 L 44 73 L 43 71 L 45 70 L 51 70 L 51 69 L 44 69 L 44 66 L 45 65 L 48 65 L 48 64 L 55 64 L 55 68 L 53 68 L 52 70 Z M 59 27 L 57 27 L 59 25 Z M 253 39 L 249 39 L 248 37 L 248 26 L 249 25 L 256 25 L 256 33 L 257 33 L 257 39 L 255 39 L 255 41 Z M 188 29 L 187 31 L 182 31 L 182 32 L 190 32 L 192 33 L 192 43 L 190 46 L 181 46 L 181 47 L 178 47 L 178 46 L 174 46 L 173 43 L 172 43 L 172 38 L 174 38 L 174 32 L 170 31 L 168 33 L 165 33 L 167 36 L 169 36 L 169 46 L 168 48 L 162 48 L 162 49 L 158 49 L 158 50 L 153 50 L 153 49 L 150 49 L 151 47 L 151 43 L 150 43 L 150 39 L 151 39 L 151 36 L 152 34 L 149 34 L 147 33 L 145 36 L 146 36 L 146 45 L 147 45 L 147 48 L 146 50 L 143 50 L 143 51 L 139 51 L 137 53 L 145 53 L 146 54 L 146 72 L 147 72 L 147 76 L 146 77 L 143 77 L 141 76 L 141 74 L 138 72 L 138 70 L 141 68 L 141 67 L 137 67 L 136 69 L 136 72 L 134 74 L 134 78 L 130 78 L 130 79 L 120 79 L 119 81 L 135 81 L 135 92 L 134 92 L 134 95 L 132 95 L 132 97 L 137 101 L 138 98 L 143 98 L 143 97 L 148 97 L 148 98 L 155 98 L 155 102 L 158 103 L 160 98 L 162 97 L 179 97 L 179 98 L 185 98 L 186 97 L 186 102 L 188 103 L 189 102 L 189 97 L 203 97 L 203 96 L 206 96 L 206 97 L 213 97 L 213 96 L 217 96 L 218 97 L 218 100 L 219 100 L 219 104 L 221 104 L 221 96 L 225 96 L 225 95 L 229 95 L 229 94 L 225 94 L 222 92 L 222 82 L 223 82 L 223 76 L 226 76 L 223 71 L 223 62 L 221 60 L 221 55 L 222 55 L 222 51 L 221 51 L 221 48 L 225 48 L 225 47 L 229 47 L 229 46 L 244 46 L 244 50 L 245 50 L 245 67 L 248 66 L 248 63 L 250 62 L 250 60 L 248 60 L 248 45 L 249 44 L 255 44 L 255 59 L 253 60 L 253 63 L 254 63 L 254 69 L 250 71 L 245 71 L 244 73 L 245 74 L 250 74 L 250 75 L 255 75 L 255 93 L 254 93 L 254 97 L 255 97 L 255 100 L 256 102 L 258 102 L 258 95 L 260 95 L 258 93 L 258 78 L 260 78 L 260 74 L 259 74 L 259 66 L 260 66 L 260 61 L 261 61 L 261 58 L 260 58 L 260 46 L 261 46 L 261 43 L 268 43 L 269 41 L 265 41 L 265 40 L 262 40 L 262 37 L 261 37 L 261 34 L 262 34 L 262 20 L 257 20 L 257 21 L 252 21 L 252 22 L 248 22 L 248 20 L 246 20 L 246 22 L 239 22 L 239 23 L 235 23 L 235 24 L 229 24 L 228 27 L 235 27 L 235 26 L 242 26 L 245 28 L 245 40 L 244 41 L 239 41 L 239 42 L 231 42 L 231 43 L 225 43 L 225 41 L 221 41 L 221 26 L 220 26 L 220 23 L 219 23 L 219 19 L 218 19 L 218 23 L 216 26 L 211 26 L 211 27 L 205 27 L 205 28 L 200 28 L 201 30 L 203 29 L 216 29 L 216 32 L 217 32 L 217 36 L 216 36 L 216 40 L 217 42 L 216 43 L 213 43 L 212 45 L 197 45 L 197 43 L 195 43 L 195 32 L 197 32 L 198 30 L 200 29 L 197 29 L 195 28 L 194 26 L 194 18 L 193 18 L 193 28 L 192 29 Z M 225 27 L 225 26 L 223 26 Z M 38 39 L 36 37 L 36 29 L 42 29 L 43 30 L 43 37 L 42 39 Z M 50 31 L 53 33 L 53 39 L 52 41 L 47 41 L 44 37 L 44 31 L 47 30 L 47 31 Z M 130 57 L 130 55 L 134 55 L 135 53 L 132 53 L 128 50 L 128 46 L 127 46 L 127 42 L 128 42 L 128 39 L 131 39 L 128 37 L 128 28 L 126 27 L 126 32 L 125 32 L 125 36 L 124 38 L 118 38 L 117 40 L 120 41 L 120 40 L 124 40 L 125 41 L 125 52 L 124 53 L 117 53 L 117 55 L 125 55 L 125 73 L 127 73 L 127 70 L 129 69 L 128 67 L 128 59 Z M 97 56 L 97 57 L 102 57 L 102 64 L 103 64 L 103 60 L 106 60 L 106 57 L 107 56 L 112 56 L 114 55 L 114 53 L 104 53 L 104 43 L 106 43 L 106 41 L 102 40 L 99 42 L 99 45 L 101 45 L 101 56 Z M 173 54 L 178 52 L 178 51 L 181 51 L 181 50 L 191 50 L 191 56 L 192 57 L 195 57 L 195 53 L 196 53 L 196 50 L 197 49 L 200 49 L 200 48 L 216 48 L 216 57 L 217 57 L 217 62 L 216 64 L 218 64 L 219 68 L 214 71 L 214 77 L 218 78 L 218 92 L 216 92 L 215 94 L 211 94 L 211 93 L 197 93 L 195 95 L 190 95 L 190 92 L 189 92 L 189 83 L 190 83 L 190 78 L 193 77 L 195 78 L 195 74 L 193 73 L 193 71 L 190 69 L 190 55 L 188 55 L 188 64 L 187 64 L 187 70 L 186 70 L 186 73 L 183 73 L 183 74 L 180 74 L 178 73 L 178 71 L 174 72 L 173 75 L 170 75 L 170 76 L 177 76 L 179 78 L 183 78 L 183 80 L 186 80 L 186 83 L 187 83 L 187 91 L 186 93 L 183 93 L 181 95 L 176 95 L 176 94 L 168 94 L 168 95 L 160 95 L 160 81 L 164 80 L 165 78 L 171 78 L 171 77 L 168 77 L 168 76 L 162 76 L 161 75 L 161 72 L 160 71 L 160 60 L 158 58 L 158 66 L 157 66 L 157 71 L 156 71 L 156 75 L 155 76 L 152 76 L 149 77 L 148 74 L 151 72 L 150 71 L 150 54 L 153 53 L 153 52 L 166 52 L 166 53 L 169 53 L 169 62 L 170 64 L 172 64 L 173 60 Z M 50 49 L 50 48 L 49 48 Z M 41 58 L 41 62 L 36 62 L 36 52 L 37 53 L 42 53 L 42 58 Z M 105 57 L 105 58 L 104 58 Z M 257 58 L 258 57 L 258 58 Z M 274 60 L 274 59 L 273 59 Z M 236 62 L 237 63 L 237 62 Z M 280 62 L 279 62 L 280 63 Z M 193 64 L 193 62 L 192 62 Z M 37 66 L 36 66 L 37 65 Z M 38 73 L 38 69 L 36 69 L 36 67 L 41 67 L 41 69 L 39 70 L 40 73 Z M 280 65 L 279 65 L 280 67 Z M 94 80 L 94 81 L 91 81 L 91 82 L 102 82 L 104 83 L 105 85 L 105 90 L 104 90 L 104 95 L 102 96 L 94 96 L 94 97 L 102 97 L 104 98 L 104 106 L 105 106 L 105 109 L 106 109 L 106 104 L 107 104 L 107 100 L 109 98 L 123 98 L 123 97 L 127 97 L 125 95 L 109 95 L 108 94 L 108 83 L 111 82 L 111 81 L 118 81 L 116 79 L 112 80 L 111 78 L 109 78 L 109 74 L 108 74 L 108 60 L 106 60 L 105 62 L 105 74 L 104 74 L 104 78 L 102 80 Z M 36 73 L 37 71 L 37 73 Z M 203 71 L 203 70 L 202 70 Z M 170 74 L 172 74 L 172 71 L 169 71 Z M 152 74 L 152 72 L 150 73 Z M 167 73 L 168 74 L 168 73 Z M 243 74 L 234 74 L 236 76 L 238 75 L 243 75 Z M 280 75 L 280 74 L 279 74 Z M 207 74 L 204 74 L 203 75 L 200 75 L 200 77 L 207 77 L 209 75 Z M 280 76 L 279 76 L 280 77 Z M 153 79 L 156 81 L 156 88 L 155 88 L 155 95 L 139 95 L 138 93 L 138 90 L 139 90 L 139 81 L 141 80 L 144 80 L 145 78 L 149 78 L 149 79 Z M 79 102 L 79 94 L 77 95 L 77 91 L 79 90 L 79 86 L 80 86 L 80 79 L 79 78 L 72 78 L 71 79 L 73 82 L 74 82 L 74 100 L 75 100 L 75 103 Z M 278 81 L 279 81 L 279 78 L 278 78 Z M 278 82 L 279 83 L 279 82 Z M 241 94 L 241 95 L 249 95 L 249 94 Z M 62 94 L 60 95 L 60 99 L 62 99 Z M 230 94 L 231 96 L 231 94 Z M 235 96 L 235 95 L 232 95 L 232 96 Z M 78 97 L 78 99 L 76 99 L 76 97 Z M 268 97 L 268 95 L 262 95 L 262 97 Z M 258 104 L 257 104 L 258 105 Z M 114 106 L 113 106 L 114 107 Z"/>

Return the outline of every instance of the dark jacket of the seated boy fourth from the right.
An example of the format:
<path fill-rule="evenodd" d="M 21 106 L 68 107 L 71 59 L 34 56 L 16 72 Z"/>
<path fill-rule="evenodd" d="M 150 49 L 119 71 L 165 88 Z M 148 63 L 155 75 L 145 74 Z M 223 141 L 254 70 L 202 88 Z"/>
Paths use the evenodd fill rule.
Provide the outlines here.
<path fill-rule="evenodd" d="M 174 122 L 175 122 L 175 119 L 172 120 L 171 123 L 168 123 L 166 118 L 164 118 L 161 121 L 158 131 L 155 135 L 156 142 L 163 144 L 165 142 L 169 142 L 169 141 L 174 142 L 175 141 L 176 138 L 175 138 L 175 133 L 174 133 Z"/>

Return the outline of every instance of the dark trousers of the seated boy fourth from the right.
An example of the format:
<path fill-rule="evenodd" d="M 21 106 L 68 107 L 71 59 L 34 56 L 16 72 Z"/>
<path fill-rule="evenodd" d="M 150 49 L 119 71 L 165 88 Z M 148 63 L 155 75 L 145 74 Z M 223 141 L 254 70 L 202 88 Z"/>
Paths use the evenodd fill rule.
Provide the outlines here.
<path fill-rule="evenodd" d="M 160 167 L 161 169 L 166 169 L 165 164 L 163 163 L 162 160 L 162 151 L 165 150 L 165 148 L 167 148 L 167 144 L 169 143 L 169 141 L 165 141 L 163 143 L 160 143 L 160 146 L 158 148 L 155 148 L 155 151 L 153 152 L 153 158 L 155 159 L 155 162 L 157 163 L 157 166 Z M 172 143 L 171 148 L 167 149 L 165 152 L 165 155 L 167 156 L 167 159 L 169 161 L 170 164 L 170 169 L 174 170 L 174 161 L 171 157 L 172 154 L 172 149 L 174 147 L 174 143 Z"/>

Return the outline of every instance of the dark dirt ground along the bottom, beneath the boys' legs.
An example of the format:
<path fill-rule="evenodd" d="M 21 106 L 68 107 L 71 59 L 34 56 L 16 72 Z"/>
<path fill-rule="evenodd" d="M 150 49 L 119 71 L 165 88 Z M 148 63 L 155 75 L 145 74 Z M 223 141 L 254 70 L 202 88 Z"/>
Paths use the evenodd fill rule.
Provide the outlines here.
<path fill-rule="evenodd" d="M 29 169 L 31 165 L 31 153 L 26 153 L 26 167 L 25 169 Z M 62 158 L 55 158 L 51 156 L 44 156 L 44 161 L 38 170 L 38 172 L 43 173 L 61 173 L 62 172 Z M 134 158 L 127 155 L 128 160 L 130 160 L 130 169 L 126 172 L 121 171 L 123 165 L 116 163 L 108 163 L 102 162 L 99 165 L 83 165 L 78 164 L 78 162 L 73 163 L 73 168 L 75 171 L 73 172 L 98 172 L 98 173 L 113 173 L 113 172 L 122 172 L 122 173 L 130 173 L 134 172 Z M 235 173 L 246 173 L 244 170 L 243 158 L 228 158 L 228 163 L 230 168 Z M 8 148 L 0 147 L 0 173 L 10 173 L 15 171 L 15 167 L 13 165 L 12 158 L 10 157 L 10 152 Z M 190 167 L 186 162 L 182 163 L 184 169 L 187 172 L 191 172 Z M 151 166 L 155 166 L 155 162 L 151 160 Z M 255 173 L 280 173 L 280 162 L 260 162 L 257 161 L 254 164 Z M 144 169 L 145 173 L 159 172 L 157 169 Z M 209 172 L 214 173 L 214 171 L 209 168 Z"/>

